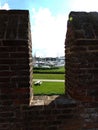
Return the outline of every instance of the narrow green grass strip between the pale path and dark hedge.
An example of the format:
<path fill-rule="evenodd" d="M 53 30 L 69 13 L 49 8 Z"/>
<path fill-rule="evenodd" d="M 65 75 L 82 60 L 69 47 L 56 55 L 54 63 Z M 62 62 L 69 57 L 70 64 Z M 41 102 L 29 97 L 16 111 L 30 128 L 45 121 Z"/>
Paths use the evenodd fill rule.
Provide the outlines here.
<path fill-rule="evenodd" d="M 64 80 L 64 74 L 33 74 L 33 79 L 59 79 L 59 80 Z"/>

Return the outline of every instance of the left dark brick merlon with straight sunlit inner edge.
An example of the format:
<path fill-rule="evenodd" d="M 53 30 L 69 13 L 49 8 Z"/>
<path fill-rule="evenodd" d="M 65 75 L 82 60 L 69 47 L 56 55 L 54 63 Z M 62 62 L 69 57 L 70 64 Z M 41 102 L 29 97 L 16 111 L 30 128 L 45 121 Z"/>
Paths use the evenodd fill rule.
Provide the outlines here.
<path fill-rule="evenodd" d="M 0 11 L 0 104 L 29 104 L 32 46 L 29 12 Z"/>

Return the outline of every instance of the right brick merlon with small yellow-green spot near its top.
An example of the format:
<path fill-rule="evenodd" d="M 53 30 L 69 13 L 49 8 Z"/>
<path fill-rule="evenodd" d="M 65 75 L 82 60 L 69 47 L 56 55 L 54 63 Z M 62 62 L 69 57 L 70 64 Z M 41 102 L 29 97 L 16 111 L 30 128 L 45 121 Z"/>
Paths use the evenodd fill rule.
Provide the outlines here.
<path fill-rule="evenodd" d="M 98 101 L 97 23 L 98 13 L 71 12 L 65 43 L 67 92 L 88 102 Z"/>

